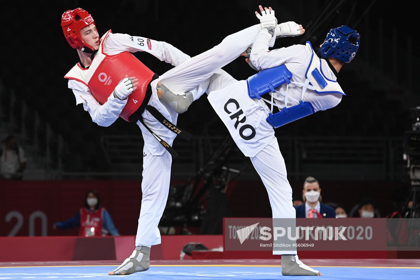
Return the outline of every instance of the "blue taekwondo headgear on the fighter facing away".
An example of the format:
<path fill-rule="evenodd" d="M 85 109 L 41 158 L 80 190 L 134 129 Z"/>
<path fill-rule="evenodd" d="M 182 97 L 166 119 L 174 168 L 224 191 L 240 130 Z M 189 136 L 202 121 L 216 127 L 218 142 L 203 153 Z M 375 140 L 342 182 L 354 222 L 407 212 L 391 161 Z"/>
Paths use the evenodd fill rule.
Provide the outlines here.
<path fill-rule="evenodd" d="M 349 63 L 359 50 L 360 34 L 349 26 L 343 25 L 328 32 L 321 49 L 321 58 L 337 58 Z"/>

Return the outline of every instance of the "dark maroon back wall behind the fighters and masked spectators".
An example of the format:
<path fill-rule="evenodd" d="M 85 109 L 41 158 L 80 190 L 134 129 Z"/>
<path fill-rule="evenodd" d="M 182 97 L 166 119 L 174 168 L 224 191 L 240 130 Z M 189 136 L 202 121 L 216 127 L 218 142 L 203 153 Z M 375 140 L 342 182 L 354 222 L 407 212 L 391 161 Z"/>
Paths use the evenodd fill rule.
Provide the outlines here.
<path fill-rule="evenodd" d="M 301 199 L 302 182 L 291 185 L 294 198 Z M 336 201 L 348 210 L 361 198 L 375 198 L 383 217 L 394 211 L 393 191 L 403 190 L 398 182 L 321 182 L 321 188 L 324 201 Z M 77 235 L 77 229 L 53 230 L 53 223 L 76 214 L 91 189 L 99 192 L 102 206 L 109 211 L 120 234 L 136 234 L 142 200 L 140 181 L 0 180 L 0 236 Z M 235 217 L 271 216 L 268 195 L 260 181 L 231 182 L 226 195 Z"/>

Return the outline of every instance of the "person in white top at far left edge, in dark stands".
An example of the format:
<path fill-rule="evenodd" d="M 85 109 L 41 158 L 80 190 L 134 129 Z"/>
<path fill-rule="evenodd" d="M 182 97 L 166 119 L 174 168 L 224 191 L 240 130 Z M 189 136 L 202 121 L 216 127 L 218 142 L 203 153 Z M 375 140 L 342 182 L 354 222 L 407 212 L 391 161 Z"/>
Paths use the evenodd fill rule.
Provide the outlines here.
<path fill-rule="evenodd" d="M 21 180 L 25 168 L 25 152 L 16 143 L 16 138 L 9 135 L 0 149 L 0 179 Z"/>

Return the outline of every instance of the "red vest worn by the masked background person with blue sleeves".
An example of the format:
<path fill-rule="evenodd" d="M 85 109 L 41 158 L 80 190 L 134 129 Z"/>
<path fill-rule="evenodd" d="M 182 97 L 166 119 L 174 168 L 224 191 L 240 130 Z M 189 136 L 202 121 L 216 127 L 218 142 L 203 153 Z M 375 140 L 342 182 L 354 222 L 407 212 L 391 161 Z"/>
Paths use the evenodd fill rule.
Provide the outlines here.
<path fill-rule="evenodd" d="M 103 211 L 103 207 L 93 213 L 80 209 L 80 236 L 102 236 Z"/>

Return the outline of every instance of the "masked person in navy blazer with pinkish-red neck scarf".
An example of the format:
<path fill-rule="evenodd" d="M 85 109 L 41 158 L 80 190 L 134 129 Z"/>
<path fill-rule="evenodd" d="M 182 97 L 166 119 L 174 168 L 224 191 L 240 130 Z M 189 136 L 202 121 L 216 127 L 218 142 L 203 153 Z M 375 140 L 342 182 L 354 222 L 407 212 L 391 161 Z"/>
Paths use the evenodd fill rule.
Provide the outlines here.
<path fill-rule="evenodd" d="M 335 218 L 336 211 L 328 205 L 321 203 L 321 188 L 318 180 L 307 177 L 303 183 L 303 202 L 295 206 L 297 218 Z"/>

